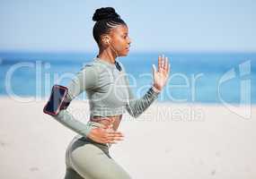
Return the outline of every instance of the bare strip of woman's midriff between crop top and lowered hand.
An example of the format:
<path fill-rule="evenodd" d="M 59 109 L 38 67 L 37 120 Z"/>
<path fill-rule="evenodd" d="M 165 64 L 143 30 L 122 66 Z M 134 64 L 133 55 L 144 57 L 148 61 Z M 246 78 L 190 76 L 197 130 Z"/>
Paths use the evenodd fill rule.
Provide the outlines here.
<path fill-rule="evenodd" d="M 121 121 L 121 118 L 122 118 L 122 115 L 114 115 L 114 116 L 107 116 L 107 117 L 93 116 L 93 118 L 91 118 L 90 121 L 103 124 L 107 128 L 117 131 L 117 129 L 119 128 L 119 123 Z"/>

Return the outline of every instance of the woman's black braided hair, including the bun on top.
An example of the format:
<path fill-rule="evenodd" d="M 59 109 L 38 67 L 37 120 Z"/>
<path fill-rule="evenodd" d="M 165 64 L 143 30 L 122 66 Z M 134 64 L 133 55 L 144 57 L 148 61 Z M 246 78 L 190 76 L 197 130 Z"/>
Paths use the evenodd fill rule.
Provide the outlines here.
<path fill-rule="evenodd" d="M 120 19 L 113 7 L 97 9 L 93 14 L 93 21 L 96 21 L 93 27 L 93 38 L 98 45 L 100 45 L 103 34 L 109 34 L 110 30 L 118 25 L 127 25 L 125 21 Z"/>

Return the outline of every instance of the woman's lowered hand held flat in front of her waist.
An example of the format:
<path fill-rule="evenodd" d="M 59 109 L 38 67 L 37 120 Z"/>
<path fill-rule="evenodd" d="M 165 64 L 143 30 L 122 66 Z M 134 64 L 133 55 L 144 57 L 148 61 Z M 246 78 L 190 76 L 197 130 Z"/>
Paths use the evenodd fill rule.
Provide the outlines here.
<path fill-rule="evenodd" d="M 110 130 L 108 126 L 94 128 L 88 134 L 88 137 L 99 143 L 117 143 L 116 141 L 122 141 L 124 135 L 122 132 L 115 132 Z"/>

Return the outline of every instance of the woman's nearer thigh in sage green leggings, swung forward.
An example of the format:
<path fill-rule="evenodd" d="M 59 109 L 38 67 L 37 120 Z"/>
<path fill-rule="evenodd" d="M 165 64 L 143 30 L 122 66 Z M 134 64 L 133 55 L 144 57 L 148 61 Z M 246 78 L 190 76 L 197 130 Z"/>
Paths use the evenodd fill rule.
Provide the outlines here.
<path fill-rule="evenodd" d="M 130 179 L 114 159 L 92 143 L 73 149 L 70 160 L 74 170 L 85 179 Z"/>

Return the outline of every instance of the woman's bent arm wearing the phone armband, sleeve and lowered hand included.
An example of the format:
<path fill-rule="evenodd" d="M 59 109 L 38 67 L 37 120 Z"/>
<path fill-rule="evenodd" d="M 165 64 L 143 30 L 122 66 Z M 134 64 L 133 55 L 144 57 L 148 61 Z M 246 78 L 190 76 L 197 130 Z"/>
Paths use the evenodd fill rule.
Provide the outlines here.
<path fill-rule="evenodd" d="M 93 90 L 97 87 L 99 72 L 91 65 L 86 65 L 84 69 L 77 72 L 75 78 L 67 86 L 68 94 L 67 101 L 72 101 L 75 97 L 81 94 L 84 90 Z M 105 129 L 108 126 L 95 128 L 92 124 L 84 124 L 75 119 L 66 109 L 62 109 L 54 118 L 61 124 L 64 124 L 72 131 L 79 133 L 85 138 L 88 137 L 93 141 L 110 143 L 119 141 L 122 137 L 121 132 L 107 132 Z"/>

